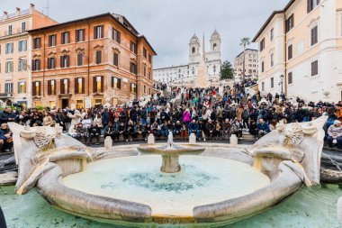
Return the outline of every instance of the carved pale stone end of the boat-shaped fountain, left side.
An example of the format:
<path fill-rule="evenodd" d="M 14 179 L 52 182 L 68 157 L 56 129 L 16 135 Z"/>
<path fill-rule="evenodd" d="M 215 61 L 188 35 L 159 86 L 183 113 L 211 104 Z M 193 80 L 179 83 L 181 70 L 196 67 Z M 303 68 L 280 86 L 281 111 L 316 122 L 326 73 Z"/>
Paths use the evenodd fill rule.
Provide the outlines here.
<path fill-rule="evenodd" d="M 70 164 L 65 173 L 84 169 L 82 166 L 85 166 L 85 160 L 89 157 L 85 145 L 60 134 L 58 127 L 24 127 L 17 123 L 8 124 L 14 132 L 14 154 L 18 164 L 15 190 L 18 194 L 26 193 L 35 187 L 41 175 L 47 170 L 58 164 L 67 167 L 63 160 L 81 161 L 78 167 L 76 164 Z"/>

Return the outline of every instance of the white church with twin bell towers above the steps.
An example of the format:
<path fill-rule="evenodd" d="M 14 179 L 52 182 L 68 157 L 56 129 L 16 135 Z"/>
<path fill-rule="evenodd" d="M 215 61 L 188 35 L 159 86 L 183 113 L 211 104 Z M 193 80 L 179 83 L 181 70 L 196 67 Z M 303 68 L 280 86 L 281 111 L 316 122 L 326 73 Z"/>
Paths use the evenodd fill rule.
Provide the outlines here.
<path fill-rule="evenodd" d="M 189 62 L 186 65 L 172 66 L 168 68 L 153 69 L 154 81 L 171 84 L 193 84 L 198 78 L 198 68 L 202 54 L 204 54 L 205 66 L 208 78 L 215 82 L 220 78 L 220 33 L 216 30 L 211 34 L 210 50 L 205 50 L 204 36 L 202 43 L 196 34 L 189 42 Z"/>

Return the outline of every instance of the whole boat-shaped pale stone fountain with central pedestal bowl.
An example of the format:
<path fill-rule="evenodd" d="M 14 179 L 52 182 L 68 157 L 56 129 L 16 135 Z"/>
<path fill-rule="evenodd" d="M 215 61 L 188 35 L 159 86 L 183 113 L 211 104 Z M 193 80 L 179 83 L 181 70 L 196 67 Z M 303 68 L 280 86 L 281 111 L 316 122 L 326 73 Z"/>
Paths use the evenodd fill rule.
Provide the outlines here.
<path fill-rule="evenodd" d="M 278 126 L 251 146 L 148 141 L 89 149 L 60 129 L 10 123 L 15 191 L 36 187 L 50 205 L 103 223 L 218 226 L 259 214 L 302 185 L 320 184 L 322 127 Z"/>

